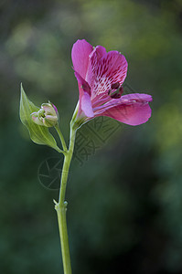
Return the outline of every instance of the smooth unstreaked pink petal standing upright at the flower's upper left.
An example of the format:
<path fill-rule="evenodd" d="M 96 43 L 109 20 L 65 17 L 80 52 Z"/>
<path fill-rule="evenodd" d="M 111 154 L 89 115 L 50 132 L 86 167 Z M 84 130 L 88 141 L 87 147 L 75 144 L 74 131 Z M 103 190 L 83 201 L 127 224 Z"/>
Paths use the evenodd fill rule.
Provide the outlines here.
<path fill-rule="evenodd" d="M 93 47 L 86 40 L 77 40 L 73 45 L 71 51 L 71 58 L 74 69 L 80 74 L 80 76 L 85 79 L 88 65 L 89 65 L 89 55 Z"/>

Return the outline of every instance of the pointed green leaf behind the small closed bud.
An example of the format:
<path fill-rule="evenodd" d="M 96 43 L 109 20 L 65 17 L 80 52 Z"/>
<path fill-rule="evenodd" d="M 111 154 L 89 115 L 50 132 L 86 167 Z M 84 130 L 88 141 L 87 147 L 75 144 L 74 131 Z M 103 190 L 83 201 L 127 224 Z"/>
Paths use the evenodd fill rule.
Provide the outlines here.
<path fill-rule="evenodd" d="M 33 142 L 38 144 L 46 144 L 52 148 L 54 148 L 59 153 L 61 152 L 57 142 L 55 141 L 54 137 L 50 132 L 48 132 L 48 128 L 37 125 L 32 120 L 30 114 L 32 112 L 37 112 L 39 108 L 34 105 L 34 103 L 27 99 L 26 92 L 23 89 L 21 84 L 21 99 L 20 99 L 20 120 L 22 123 L 27 127 L 30 138 Z"/>

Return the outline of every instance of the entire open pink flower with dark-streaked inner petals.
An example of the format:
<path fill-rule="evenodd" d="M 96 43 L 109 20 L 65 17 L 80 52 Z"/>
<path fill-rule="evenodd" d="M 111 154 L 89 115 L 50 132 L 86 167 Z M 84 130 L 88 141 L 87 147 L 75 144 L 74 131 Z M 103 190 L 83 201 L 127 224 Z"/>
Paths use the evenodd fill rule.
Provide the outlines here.
<path fill-rule="evenodd" d="M 73 45 L 71 57 L 80 91 L 78 118 L 89 121 L 109 116 L 130 125 L 148 121 L 152 97 L 144 93 L 122 95 L 128 64 L 120 52 L 106 52 L 83 39 Z"/>

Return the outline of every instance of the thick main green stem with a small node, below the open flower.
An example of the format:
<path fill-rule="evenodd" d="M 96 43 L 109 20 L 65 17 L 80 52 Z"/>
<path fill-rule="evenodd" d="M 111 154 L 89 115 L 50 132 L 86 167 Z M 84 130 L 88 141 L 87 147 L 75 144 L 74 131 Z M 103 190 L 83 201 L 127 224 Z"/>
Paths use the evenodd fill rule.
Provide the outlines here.
<path fill-rule="evenodd" d="M 55 202 L 55 209 L 58 215 L 59 221 L 59 237 L 60 245 L 62 252 L 62 261 L 64 274 L 71 274 L 71 265 L 70 265 L 70 248 L 69 248 L 69 237 L 67 231 L 67 220 L 66 220 L 66 211 L 67 211 L 67 202 L 65 202 L 65 193 L 68 180 L 68 174 L 70 169 L 70 161 L 72 158 L 74 150 L 74 142 L 77 128 L 74 128 L 74 125 L 70 124 L 70 147 L 69 151 L 65 154 L 62 174 L 61 174 L 61 183 L 60 183 L 60 192 L 59 192 L 59 203 Z"/>

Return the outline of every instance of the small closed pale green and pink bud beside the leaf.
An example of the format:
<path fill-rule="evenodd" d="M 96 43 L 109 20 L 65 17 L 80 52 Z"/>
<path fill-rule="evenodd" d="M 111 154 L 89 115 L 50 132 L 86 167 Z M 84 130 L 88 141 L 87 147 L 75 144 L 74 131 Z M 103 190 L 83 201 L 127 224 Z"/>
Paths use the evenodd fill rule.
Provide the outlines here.
<path fill-rule="evenodd" d="M 48 101 L 48 103 L 43 103 L 41 105 L 39 111 L 31 113 L 31 117 L 37 125 L 49 128 L 54 127 L 58 123 L 59 112 L 55 105 Z"/>

